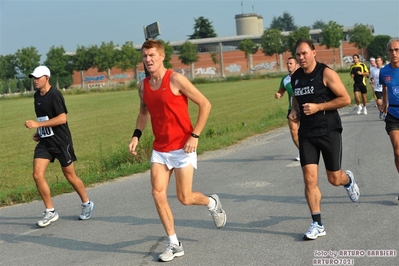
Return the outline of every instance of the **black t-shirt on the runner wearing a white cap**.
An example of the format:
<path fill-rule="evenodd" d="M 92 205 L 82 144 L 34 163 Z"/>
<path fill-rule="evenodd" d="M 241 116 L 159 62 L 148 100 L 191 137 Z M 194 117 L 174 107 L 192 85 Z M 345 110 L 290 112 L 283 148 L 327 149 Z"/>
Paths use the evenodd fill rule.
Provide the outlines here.
<path fill-rule="evenodd" d="M 51 87 L 45 95 L 40 91 L 34 94 L 34 105 L 37 121 L 46 121 L 62 113 L 67 114 L 64 97 L 56 88 Z M 72 144 L 72 136 L 68 123 L 55 127 L 41 127 L 37 132 L 40 136 L 40 144 L 48 147 Z"/>

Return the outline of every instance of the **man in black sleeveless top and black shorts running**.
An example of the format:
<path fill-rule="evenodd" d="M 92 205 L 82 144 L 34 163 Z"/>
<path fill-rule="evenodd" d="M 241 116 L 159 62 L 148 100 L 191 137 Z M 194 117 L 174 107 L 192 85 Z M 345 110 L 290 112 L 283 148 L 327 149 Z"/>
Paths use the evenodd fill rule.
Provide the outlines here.
<path fill-rule="evenodd" d="M 289 119 L 299 121 L 299 152 L 305 196 L 312 220 L 304 240 L 326 235 L 321 222 L 321 192 L 318 183 L 320 152 L 326 167 L 328 181 L 344 186 L 349 198 L 359 198 L 359 188 L 353 173 L 341 170 L 342 125 L 337 109 L 350 104 L 350 96 L 338 74 L 327 65 L 316 61 L 311 40 L 299 40 L 296 56 L 300 68 L 291 77 L 294 91 Z"/>

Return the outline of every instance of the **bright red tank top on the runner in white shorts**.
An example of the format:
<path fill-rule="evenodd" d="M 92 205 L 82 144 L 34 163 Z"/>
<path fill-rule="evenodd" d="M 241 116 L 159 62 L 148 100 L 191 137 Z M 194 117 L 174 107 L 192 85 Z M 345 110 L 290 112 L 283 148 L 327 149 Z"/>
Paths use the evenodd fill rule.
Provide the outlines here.
<path fill-rule="evenodd" d="M 193 126 L 185 95 L 175 95 L 170 88 L 171 70 L 167 70 L 157 90 L 150 86 L 150 77 L 144 79 L 143 101 L 151 117 L 154 134 L 153 149 L 169 152 L 184 148 Z"/>

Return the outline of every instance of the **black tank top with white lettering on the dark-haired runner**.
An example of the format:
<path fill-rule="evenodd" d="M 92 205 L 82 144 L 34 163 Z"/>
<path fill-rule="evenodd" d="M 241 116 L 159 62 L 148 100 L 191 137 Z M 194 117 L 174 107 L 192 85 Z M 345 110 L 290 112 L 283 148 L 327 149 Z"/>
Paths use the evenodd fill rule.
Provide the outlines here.
<path fill-rule="evenodd" d="M 323 71 L 328 67 L 317 62 L 310 74 L 299 68 L 291 77 L 291 85 L 300 110 L 298 134 L 303 137 L 316 137 L 329 134 L 333 130 L 342 132 L 341 118 L 337 110 L 320 111 L 305 115 L 302 105 L 305 103 L 323 103 L 336 98 L 335 94 L 323 82 Z"/>

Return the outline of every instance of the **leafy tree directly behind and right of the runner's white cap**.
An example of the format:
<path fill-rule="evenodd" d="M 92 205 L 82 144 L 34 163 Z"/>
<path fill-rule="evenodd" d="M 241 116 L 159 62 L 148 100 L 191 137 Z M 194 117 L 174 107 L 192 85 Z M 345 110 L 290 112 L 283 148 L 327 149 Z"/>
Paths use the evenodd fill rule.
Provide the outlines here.
<path fill-rule="evenodd" d="M 57 89 L 60 88 L 61 77 L 68 77 L 72 75 L 73 69 L 70 63 L 70 57 L 69 55 L 65 54 L 65 49 L 63 46 L 52 46 L 50 51 L 47 53 L 47 59 L 44 61 L 44 64 L 50 68 L 50 81 L 55 81 Z M 71 84 L 61 84 L 63 88 L 69 87 L 70 85 Z"/>

